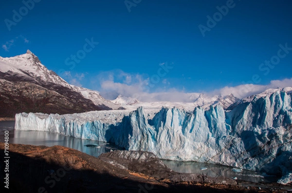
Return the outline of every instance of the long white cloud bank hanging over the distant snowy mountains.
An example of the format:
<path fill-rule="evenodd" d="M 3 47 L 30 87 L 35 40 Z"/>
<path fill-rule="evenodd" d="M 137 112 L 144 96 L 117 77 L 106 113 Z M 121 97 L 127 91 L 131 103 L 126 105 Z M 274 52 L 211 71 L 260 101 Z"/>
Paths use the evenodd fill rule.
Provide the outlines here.
<path fill-rule="evenodd" d="M 193 102 L 200 93 L 180 91 L 169 87 L 167 78 L 157 85 L 153 91 L 149 92 L 146 88 L 150 84 L 150 79 L 145 74 L 130 74 L 122 70 L 112 70 L 101 72 L 91 80 L 93 89 L 107 99 L 114 99 L 117 96 L 127 96 L 137 98 L 142 102 L 170 101 L 170 102 Z M 164 87 L 164 84 L 165 85 Z M 272 80 L 269 84 L 241 84 L 237 86 L 225 86 L 211 92 L 201 92 L 207 96 L 233 94 L 237 98 L 244 98 L 263 92 L 269 88 L 283 88 L 292 86 L 292 78 L 284 80 Z M 155 88 L 156 87 L 156 88 Z M 163 87 L 163 88 L 162 88 Z"/>

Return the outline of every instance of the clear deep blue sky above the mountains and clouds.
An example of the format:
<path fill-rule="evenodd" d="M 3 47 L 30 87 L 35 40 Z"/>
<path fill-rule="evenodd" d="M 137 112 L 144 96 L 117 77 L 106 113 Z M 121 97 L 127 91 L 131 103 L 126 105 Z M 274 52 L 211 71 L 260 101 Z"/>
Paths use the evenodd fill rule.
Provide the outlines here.
<path fill-rule="evenodd" d="M 30 49 L 65 80 L 91 89 L 102 89 L 100 81 L 110 79 L 109 74 L 114 82 L 135 84 L 140 81 L 134 80 L 136 75 L 151 77 L 165 62 L 174 68 L 150 92 L 211 91 L 243 84 L 255 74 L 261 79 L 254 82 L 258 84 L 292 78 L 292 50 L 267 75 L 259 70 L 277 54 L 279 44 L 292 48 L 292 1 L 234 0 L 234 8 L 203 37 L 198 26 L 207 26 L 207 16 L 213 17 L 216 7 L 226 2 L 142 0 L 128 12 L 124 0 L 41 0 L 9 31 L 4 20 L 13 20 L 13 10 L 19 13 L 24 4 L 2 1 L 0 43 L 8 50 L 0 48 L 0 56 Z M 83 49 L 91 37 L 99 44 L 70 69 L 66 58 Z M 132 80 L 118 78 L 121 72 Z"/>

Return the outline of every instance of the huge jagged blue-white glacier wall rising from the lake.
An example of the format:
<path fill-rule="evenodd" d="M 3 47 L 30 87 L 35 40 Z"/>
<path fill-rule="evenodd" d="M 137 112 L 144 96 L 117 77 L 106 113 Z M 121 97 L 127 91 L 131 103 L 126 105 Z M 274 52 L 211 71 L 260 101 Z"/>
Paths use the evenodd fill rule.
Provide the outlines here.
<path fill-rule="evenodd" d="M 222 106 L 193 111 L 114 110 L 78 114 L 16 114 L 15 129 L 51 131 L 149 151 L 161 159 L 223 164 L 282 177 L 292 175 L 292 88 L 269 89 Z"/>

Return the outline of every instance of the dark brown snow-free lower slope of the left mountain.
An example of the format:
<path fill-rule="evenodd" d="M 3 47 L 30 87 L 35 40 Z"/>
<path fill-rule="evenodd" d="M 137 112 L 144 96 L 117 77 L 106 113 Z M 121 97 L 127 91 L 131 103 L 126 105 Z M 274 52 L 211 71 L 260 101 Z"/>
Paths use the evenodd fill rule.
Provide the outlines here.
<path fill-rule="evenodd" d="M 1 80 L 0 88 L 0 117 L 14 117 L 22 112 L 66 114 L 109 109 L 98 107 L 91 100 L 63 86 Z"/>

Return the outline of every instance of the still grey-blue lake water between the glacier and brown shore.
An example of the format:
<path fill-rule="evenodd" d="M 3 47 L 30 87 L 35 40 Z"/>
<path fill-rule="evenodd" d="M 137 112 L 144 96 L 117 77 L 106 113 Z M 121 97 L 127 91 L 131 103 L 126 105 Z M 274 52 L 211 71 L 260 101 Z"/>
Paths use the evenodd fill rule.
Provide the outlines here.
<path fill-rule="evenodd" d="M 98 157 L 100 154 L 105 152 L 110 152 L 110 150 L 123 149 L 114 144 L 86 139 L 78 139 L 57 133 L 45 131 L 14 130 L 14 124 L 15 124 L 14 121 L 0 122 L 0 142 L 4 142 L 4 131 L 8 130 L 10 144 L 45 145 L 45 146 L 62 145 L 79 150 L 94 157 Z M 261 174 L 258 174 L 256 172 L 248 170 L 238 171 L 235 168 L 217 164 L 200 163 L 195 161 L 167 161 L 167 160 L 164 160 L 164 163 L 170 169 L 176 172 L 205 174 L 210 177 L 219 176 L 229 178 L 237 177 L 237 179 L 252 182 L 276 181 L 275 177 L 263 177 L 261 176 Z"/>

